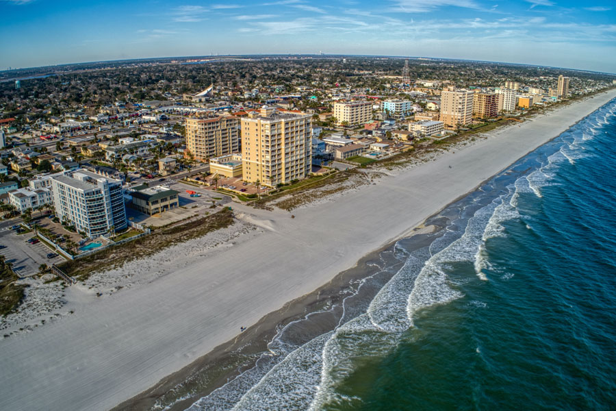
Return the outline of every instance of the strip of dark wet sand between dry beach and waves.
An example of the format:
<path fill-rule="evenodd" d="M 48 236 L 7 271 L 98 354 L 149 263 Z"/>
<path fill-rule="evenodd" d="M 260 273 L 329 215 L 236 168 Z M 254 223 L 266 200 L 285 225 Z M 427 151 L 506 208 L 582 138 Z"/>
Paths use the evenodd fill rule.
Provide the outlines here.
<path fill-rule="evenodd" d="M 587 114 L 586 116 L 583 116 L 575 123 L 572 123 L 567 127 L 567 129 L 574 127 L 574 125 L 580 123 L 581 121 L 584 121 L 590 114 L 591 113 Z M 542 115 L 546 116 L 548 114 Z M 498 130 L 498 132 L 506 132 L 506 129 Z M 513 164 L 519 162 L 526 156 L 537 151 L 539 147 L 542 147 L 543 145 L 547 145 L 549 142 L 552 142 L 559 136 L 561 136 L 561 134 L 552 136 L 552 138 L 543 142 L 542 145 L 531 149 L 527 153 L 524 153 L 519 158 L 511 162 L 511 164 L 507 164 L 497 173 L 494 173 L 490 177 L 487 177 L 487 179 L 480 182 L 471 190 L 468 190 L 464 194 L 460 195 L 459 197 L 448 203 L 443 208 L 437 210 L 431 216 L 428 216 L 428 218 L 426 218 L 422 224 L 416 227 L 411 227 L 411 232 L 409 234 L 392 240 L 380 249 L 371 251 L 366 256 L 363 256 L 355 266 L 337 274 L 331 279 L 330 282 L 323 284 L 318 289 L 314 290 L 313 292 L 310 292 L 307 295 L 298 297 L 293 301 L 288 301 L 287 303 L 285 303 L 285 306 L 283 306 L 283 308 L 281 308 L 280 310 L 266 314 L 255 325 L 248 327 L 245 332 L 238 335 L 238 337 L 234 340 L 227 341 L 226 343 L 219 345 L 209 353 L 195 360 L 192 364 L 184 367 L 180 371 L 177 371 L 177 373 L 168 375 L 160 382 L 158 382 L 156 386 L 153 386 L 149 390 L 145 390 L 139 395 L 136 395 L 135 397 L 123 403 L 120 403 L 118 406 L 114 407 L 112 411 L 152 409 L 157 399 L 165 397 L 170 392 L 176 391 L 178 387 L 183 386 L 183 384 L 185 383 L 190 384 L 190 380 L 194 379 L 195 375 L 198 375 L 200 372 L 215 372 L 216 369 L 224 367 L 225 362 L 229 362 L 230 357 L 233 356 L 233 354 L 237 355 L 238 351 L 242 351 L 243 347 L 246 347 L 248 345 L 251 346 L 248 350 L 246 350 L 247 352 L 245 354 L 247 358 L 250 357 L 251 353 L 263 353 L 264 351 L 267 351 L 268 344 L 275 336 L 279 334 L 279 329 L 285 327 L 289 323 L 306 319 L 307 314 L 320 314 L 320 312 L 318 312 L 318 309 L 311 310 L 311 308 L 313 308 L 314 306 L 318 306 L 319 303 L 323 303 L 323 300 L 333 298 L 333 301 L 330 300 L 328 302 L 333 304 L 342 303 L 342 301 L 346 298 L 346 296 L 343 294 L 344 288 L 350 286 L 350 283 L 353 281 L 365 278 L 366 272 L 369 271 L 367 265 L 368 262 L 377 259 L 378 256 L 381 255 L 381 253 L 387 251 L 391 252 L 396 243 L 402 239 L 409 240 L 413 243 L 413 247 L 411 247 L 411 249 L 420 248 L 426 245 L 426 243 L 431 243 L 445 228 L 445 225 L 438 225 L 434 222 L 435 219 L 439 218 L 439 214 L 441 214 L 441 212 L 447 210 L 453 204 L 462 201 L 463 199 L 471 195 L 473 192 L 476 192 L 478 188 L 496 177 L 496 175 L 502 173 L 506 169 L 509 169 L 509 167 L 511 167 Z M 378 171 L 378 169 L 376 170 Z M 428 223 L 428 221 L 431 222 L 432 225 L 426 226 L 426 223 Z M 402 263 L 400 263 L 400 265 L 402 265 Z M 331 331 L 333 327 L 335 327 L 335 325 L 331 325 L 331 321 L 329 321 L 329 324 L 328 321 L 326 321 L 325 324 L 321 325 L 320 331 L 313 330 L 314 334 L 311 334 L 311 336 L 307 340 L 305 340 L 304 343 L 307 343 L 308 340 L 311 340 L 312 338 L 316 338 L 320 334 Z M 170 403 L 162 403 L 162 406 L 166 406 L 165 409 L 170 411 L 186 410 L 190 408 L 190 406 L 192 406 L 192 404 L 195 403 L 195 401 L 197 401 L 198 399 L 206 397 L 207 395 L 214 393 L 216 390 L 223 388 L 227 384 L 233 382 L 233 379 L 245 373 L 246 370 L 257 366 L 257 359 L 244 360 L 244 362 L 241 363 L 240 366 L 235 366 L 234 369 L 227 369 L 225 371 L 222 371 L 222 375 L 220 375 L 217 379 L 211 382 L 211 384 L 208 384 L 206 388 L 201 388 L 200 390 L 193 391 L 192 393 L 182 395 L 181 397 Z M 212 369 L 214 369 L 214 371 L 212 371 Z"/>

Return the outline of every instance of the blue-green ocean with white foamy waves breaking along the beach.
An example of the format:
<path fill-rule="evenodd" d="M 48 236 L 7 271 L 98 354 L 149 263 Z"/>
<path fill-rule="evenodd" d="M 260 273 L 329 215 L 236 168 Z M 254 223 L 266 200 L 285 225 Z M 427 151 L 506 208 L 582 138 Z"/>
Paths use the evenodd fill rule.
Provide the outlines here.
<path fill-rule="evenodd" d="M 188 410 L 614 410 L 615 114 L 616 99 L 366 261 Z"/>

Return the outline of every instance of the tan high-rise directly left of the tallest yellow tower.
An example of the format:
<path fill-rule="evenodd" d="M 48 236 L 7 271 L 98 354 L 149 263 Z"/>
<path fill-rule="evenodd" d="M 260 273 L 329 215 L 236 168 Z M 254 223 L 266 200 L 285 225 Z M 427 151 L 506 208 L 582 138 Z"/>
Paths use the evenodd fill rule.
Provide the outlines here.
<path fill-rule="evenodd" d="M 240 119 L 235 116 L 186 119 L 186 149 L 199 161 L 239 153 Z"/>

